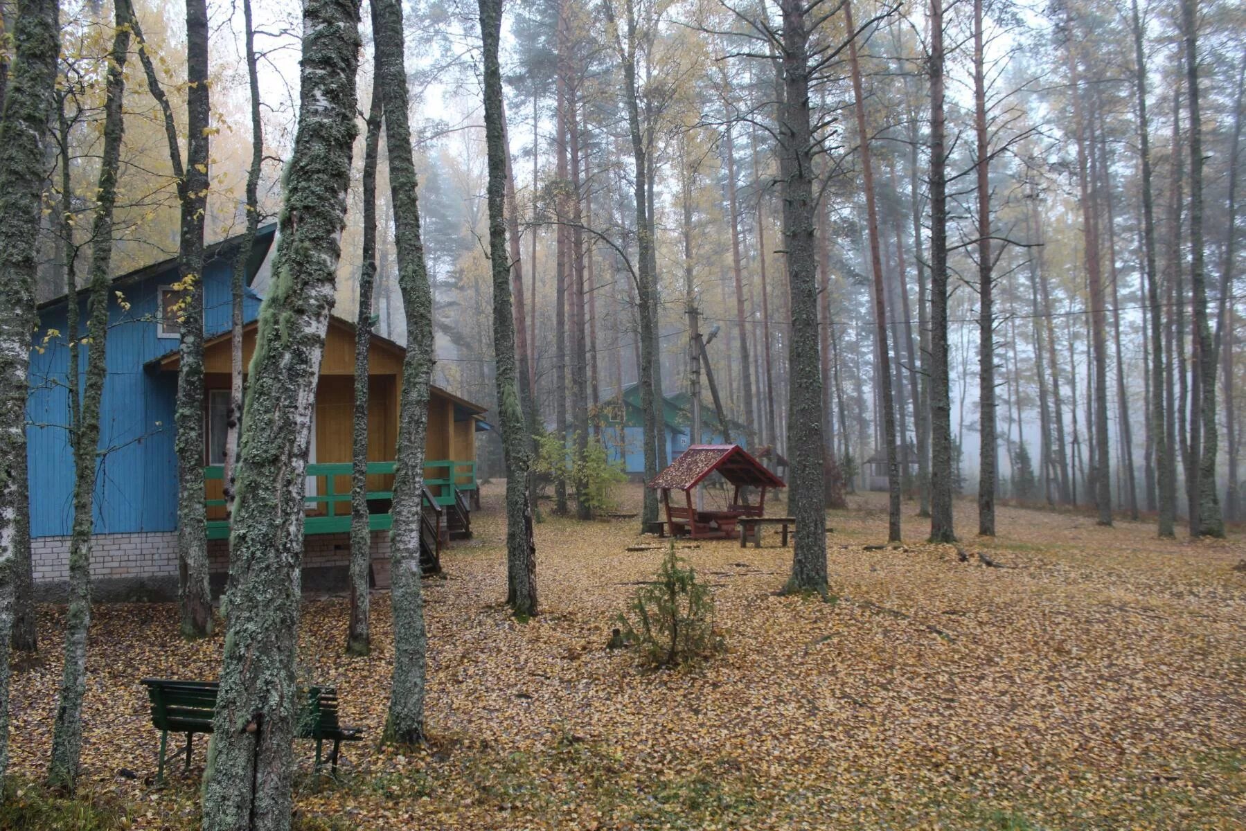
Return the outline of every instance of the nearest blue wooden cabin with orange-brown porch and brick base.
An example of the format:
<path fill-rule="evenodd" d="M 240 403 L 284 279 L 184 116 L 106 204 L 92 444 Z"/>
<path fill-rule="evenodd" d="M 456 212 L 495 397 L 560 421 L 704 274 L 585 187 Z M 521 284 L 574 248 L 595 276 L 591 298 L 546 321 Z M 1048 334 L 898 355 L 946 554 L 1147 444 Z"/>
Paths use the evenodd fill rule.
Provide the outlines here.
<path fill-rule="evenodd" d="M 245 270 L 244 366 L 254 349 L 262 303 L 252 284 L 272 249 L 275 226 L 260 229 Z M 240 238 L 207 250 L 204 293 L 204 478 L 209 557 L 219 583 L 228 564 L 228 520 L 221 500 L 221 462 L 228 412 L 231 278 Z M 167 594 L 177 581 L 177 260 L 117 277 L 108 302 L 107 375 L 100 417 L 92 577 L 98 592 Z M 80 293 L 81 319 L 86 298 Z M 30 529 L 35 578 L 55 592 L 67 578 L 74 461 L 67 442 L 69 348 L 66 299 L 39 306 L 31 346 L 27 405 Z M 80 376 L 86 368 L 80 350 Z M 370 353 L 369 460 L 374 556 L 388 556 L 389 496 L 397 441 L 402 348 L 374 336 Z M 349 558 L 350 434 L 354 400 L 354 326 L 330 320 L 316 387 L 304 523 L 305 582 L 339 581 Z M 470 533 L 467 511 L 478 500 L 475 432 L 487 429 L 485 407 L 434 387 L 430 395 L 425 478 L 444 516 L 439 536 Z M 312 577 L 309 581 L 308 577 Z M 145 592 L 148 593 L 148 592 Z"/>

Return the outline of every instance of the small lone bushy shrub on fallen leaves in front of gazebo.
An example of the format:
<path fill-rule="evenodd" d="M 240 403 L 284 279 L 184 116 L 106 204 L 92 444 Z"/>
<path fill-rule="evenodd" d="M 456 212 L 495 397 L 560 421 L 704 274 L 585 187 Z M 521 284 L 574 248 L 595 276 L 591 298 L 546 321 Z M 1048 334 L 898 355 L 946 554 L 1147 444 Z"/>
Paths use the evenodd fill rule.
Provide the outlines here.
<path fill-rule="evenodd" d="M 637 589 L 627 613 L 618 617 L 621 638 L 640 648 L 654 667 L 672 667 L 719 652 L 714 628 L 714 594 L 697 571 L 675 556 L 670 543 L 658 578 Z"/>

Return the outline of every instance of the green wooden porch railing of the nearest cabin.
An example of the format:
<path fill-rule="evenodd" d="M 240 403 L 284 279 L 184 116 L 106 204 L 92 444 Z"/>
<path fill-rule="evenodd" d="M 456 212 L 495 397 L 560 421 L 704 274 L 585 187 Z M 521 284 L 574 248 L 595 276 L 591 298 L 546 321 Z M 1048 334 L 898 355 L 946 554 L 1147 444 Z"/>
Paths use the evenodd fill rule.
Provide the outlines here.
<path fill-rule="evenodd" d="M 425 476 L 424 485 L 430 488 L 434 493 L 434 500 L 440 506 L 451 505 L 455 501 L 456 491 L 475 491 L 478 485 L 476 482 L 476 462 L 460 462 L 454 460 L 436 460 L 426 461 L 424 463 L 425 471 L 430 467 L 432 468 L 445 468 L 445 475 L 440 477 Z M 369 476 L 385 476 L 392 475 L 396 470 L 396 462 L 368 462 L 368 475 Z M 324 513 L 316 513 L 309 516 L 303 521 L 303 533 L 315 534 L 315 533 L 346 533 L 350 531 L 350 476 L 351 476 L 351 463 L 350 462 L 331 462 L 331 463 L 313 463 L 307 466 L 307 476 L 309 478 L 315 477 L 316 480 L 316 492 L 315 495 L 309 495 L 304 497 L 304 503 L 308 508 L 324 506 Z M 338 480 L 345 478 L 346 481 L 341 487 L 338 486 Z M 224 480 L 224 466 L 223 465 L 208 465 L 203 468 L 203 481 L 218 481 Z M 324 481 L 324 487 L 320 487 L 320 481 Z M 436 488 L 436 490 L 431 490 Z M 394 491 L 368 491 L 369 501 L 391 501 L 394 498 Z M 204 500 L 204 507 L 224 507 L 226 501 L 222 500 Z M 368 527 L 371 531 L 389 531 L 394 523 L 392 515 L 386 510 L 384 513 L 370 513 L 368 516 Z M 229 520 L 207 520 L 204 522 L 207 529 L 208 539 L 228 539 L 229 538 Z"/>

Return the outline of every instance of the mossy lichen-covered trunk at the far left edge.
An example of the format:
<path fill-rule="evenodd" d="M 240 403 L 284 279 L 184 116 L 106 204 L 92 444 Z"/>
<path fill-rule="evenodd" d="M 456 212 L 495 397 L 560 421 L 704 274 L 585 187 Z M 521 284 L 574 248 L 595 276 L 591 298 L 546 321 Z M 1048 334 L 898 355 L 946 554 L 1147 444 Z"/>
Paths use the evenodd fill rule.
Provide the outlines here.
<path fill-rule="evenodd" d="M 9 767 L 9 642 L 16 561 L 30 558 L 26 395 L 35 325 L 35 242 L 44 196 L 44 146 L 60 52 L 56 0 L 22 0 L 0 115 L 0 789 Z M 20 548 L 25 546 L 25 551 Z M 14 630 L 22 647 L 21 630 Z M 30 618 L 34 648 L 34 618 Z"/>

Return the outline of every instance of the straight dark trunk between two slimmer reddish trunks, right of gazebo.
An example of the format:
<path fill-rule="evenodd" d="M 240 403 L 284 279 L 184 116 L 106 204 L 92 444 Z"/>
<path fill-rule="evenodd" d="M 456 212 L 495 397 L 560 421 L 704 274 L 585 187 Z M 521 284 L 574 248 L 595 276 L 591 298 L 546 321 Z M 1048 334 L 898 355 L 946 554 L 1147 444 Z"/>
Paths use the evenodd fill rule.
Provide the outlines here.
<path fill-rule="evenodd" d="M 947 151 L 943 0 L 931 0 L 931 542 L 953 542 L 952 400 L 947 358 Z"/>

